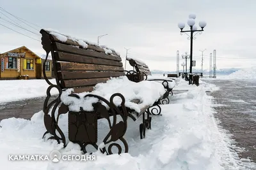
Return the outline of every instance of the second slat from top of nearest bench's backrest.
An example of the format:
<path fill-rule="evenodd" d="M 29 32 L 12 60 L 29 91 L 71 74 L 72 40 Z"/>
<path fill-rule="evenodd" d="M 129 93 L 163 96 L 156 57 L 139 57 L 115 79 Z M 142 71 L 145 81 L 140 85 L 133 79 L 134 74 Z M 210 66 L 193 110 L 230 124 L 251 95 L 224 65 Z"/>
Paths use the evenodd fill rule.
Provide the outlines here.
<path fill-rule="evenodd" d="M 61 52 L 68 52 L 68 53 L 76 53 L 76 54 L 85 55 L 88 57 L 97 57 L 97 58 L 106 59 L 106 60 L 122 61 L 121 57 L 118 57 L 118 56 L 108 55 L 106 53 L 95 52 L 92 50 L 86 50 L 83 48 L 77 48 L 76 46 L 65 45 L 63 43 L 58 43 L 58 42 L 55 43 L 54 50 L 61 51 Z"/>

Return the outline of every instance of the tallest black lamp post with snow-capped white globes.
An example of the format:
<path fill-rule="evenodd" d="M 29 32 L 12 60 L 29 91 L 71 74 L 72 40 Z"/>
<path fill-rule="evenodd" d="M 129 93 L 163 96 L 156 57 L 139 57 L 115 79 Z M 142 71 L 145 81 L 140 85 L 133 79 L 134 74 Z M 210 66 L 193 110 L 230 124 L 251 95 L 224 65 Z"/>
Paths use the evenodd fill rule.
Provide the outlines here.
<path fill-rule="evenodd" d="M 196 39 L 195 38 L 195 35 L 200 32 L 200 34 L 202 34 L 202 31 L 204 31 L 204 27 L 206 26 L 206 22 L 204 21 L 200 21 L 199 22 L 199 27 L 201 27 L 201 29 L 197 29 L 196 25 L 195 25 L 195 18 L 196 18 L 196 15 L 195 14 L 190 14 L 189 15 L 189 19 L 188 19 L 188 25 L 189 25 L 189 30 L 188 31 L 183 31 L 184 27 L 185 27 L 185 24 L 180 22 L 178 24 L 178 27 L 180 29 L 180 34 L 182 34 L 182 32 L 185 32 L 185 34 L 187 34 L 186 32 L 189 32 L 190 33 L 190 36 L 189 34 L 187 34 L 189 37 L 188 39 L 190 39 L 190 67 L 189 67 L 189 73 L 192 74 L 192 61 L 193 61 L 193 39 Z M 196 34 L 194 34 L 194 32 L 196 32 Z M 191 76 L 189 76 L 189 85 L 192 83 L 191 81 Z"/>

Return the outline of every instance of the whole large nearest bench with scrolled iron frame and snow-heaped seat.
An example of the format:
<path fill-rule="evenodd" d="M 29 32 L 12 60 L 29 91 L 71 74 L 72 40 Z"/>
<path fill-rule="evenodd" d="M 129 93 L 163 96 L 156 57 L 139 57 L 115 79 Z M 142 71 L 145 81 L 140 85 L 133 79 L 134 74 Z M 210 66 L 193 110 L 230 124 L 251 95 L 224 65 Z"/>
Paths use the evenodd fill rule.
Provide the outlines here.
<path fill-rule="evenodd" d="M 68 139 L 78 143 L 84 153 L 87 145 L 98 149 L 97 121 L 102 118 L 108 120 L 109 132 L 101 152 L 111 154 L 112 146 L 116 146 L 121 153 L 122 147 L 115 143 L 118 140 L 123 143 L 124 152 L 128 152 L 124 139 L 128 117 L 135 121 L 142 116 L 140 138 L 145 138 L 145 130 L 151 128 L 150 108 L 157 106 L 161 111 L 159 101 L 168 96 L 163 85 L 128 80 L 120 55 L 106 46 L 93 45 L 52 30 L 42 29 L 40 33 L 47 57 L 51 52 L 56 78 L 56 85 L 53 85 L 43 70 L 45 81 L 50 85 L 44 103 L 45 134 L 51 134 L 49 139 L 67 145 L 65 134 L 58 125 L 60 115 L 66 113 Z M 59 96 L 48 103 L 52 88 L 59 90 Z"/>

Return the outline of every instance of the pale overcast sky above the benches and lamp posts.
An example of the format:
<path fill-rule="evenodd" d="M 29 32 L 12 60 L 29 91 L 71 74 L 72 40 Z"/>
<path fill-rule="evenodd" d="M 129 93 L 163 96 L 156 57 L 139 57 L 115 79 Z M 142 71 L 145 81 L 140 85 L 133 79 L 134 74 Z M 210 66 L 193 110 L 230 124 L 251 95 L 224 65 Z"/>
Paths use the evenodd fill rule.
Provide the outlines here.
<path fill-rule="evenodd" d="M 107 45 L 121 53 L 131 48 L 128 57 L 144 60 L 150 69 L 175 71 L 176 53 L 189 52 L 190 41 L 180 35 L 179 22 L 187 22 L 190 13 L 196 14 L 196 25 L 207 22 L 205 31 L 193 41 L 196 68 L 201 67 L 204 51 L 204 69 L 209 69 L 209 55 L 216 49 L 217 67 L 256 66 L 256 1 L 255 0 L 0 0 L 0 7 L 12 15 L 27 20 L 28 25 L 0 8 L 0 52 L 27 46 L 38 55 L 44 50 L 40 41 L 41 28 L 51 28 L 63 34 L 81 37 L 100 45 Z M 16 27 L 12 20 L 31 32 Z M 30 36 L 31 39 L 17 32 Z M 188 29 L 186 24 L 185 29 Z M 180 57 L 181 58 L 181 57 Z M 180 59 L 180 64 L 184 59 Z M 179 65 L 180 65 L 179 64 Z M 127 64 L 128 65 L 128 64 Z M 189 66 L 188 66 L 189 67 Z M 182 69 L 182 66 L 180 66 Z"/>

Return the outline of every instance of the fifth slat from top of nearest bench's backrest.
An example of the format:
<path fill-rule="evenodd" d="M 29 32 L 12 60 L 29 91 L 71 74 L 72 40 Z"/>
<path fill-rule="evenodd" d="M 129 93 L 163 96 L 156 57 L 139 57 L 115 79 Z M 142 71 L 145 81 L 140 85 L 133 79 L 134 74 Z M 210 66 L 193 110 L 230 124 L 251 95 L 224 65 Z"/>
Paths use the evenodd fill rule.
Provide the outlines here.
<path fill-rule="evenodd" d="M 124 76 L 124 72 L 110 72 L 110 71 L 68 71 L 68 72 L 59 72 L 59 80 L 68 80 L 68 79 L 84 79 L 84 78 L 107 78 L 107 77 L 117 77 Z"/>

